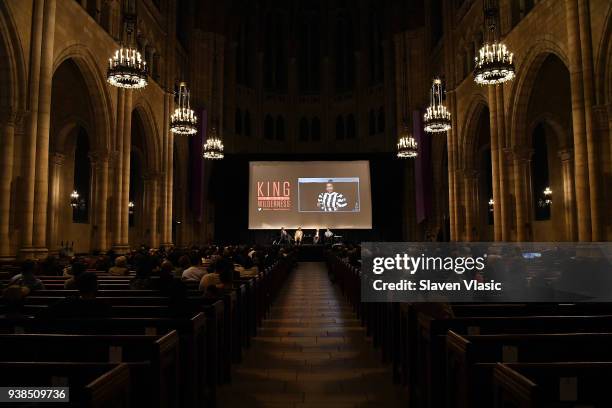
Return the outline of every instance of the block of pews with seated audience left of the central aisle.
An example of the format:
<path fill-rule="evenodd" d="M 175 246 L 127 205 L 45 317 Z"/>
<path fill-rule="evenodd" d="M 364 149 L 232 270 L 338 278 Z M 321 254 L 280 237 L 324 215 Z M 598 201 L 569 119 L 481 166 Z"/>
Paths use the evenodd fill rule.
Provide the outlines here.
<path fill-rule="evenodd" d="M 116 257 L 127 275 L 92 269 L 99 255 L 64 261 L 53 275 L 32 261 L 7 265 L 0 385 L 67 386 L 62 406 L 214 406 L 295 257 L 245 249 L 142 249 Z M 175 268 L 185 255 L 201 260 L 199 280 Z"/>

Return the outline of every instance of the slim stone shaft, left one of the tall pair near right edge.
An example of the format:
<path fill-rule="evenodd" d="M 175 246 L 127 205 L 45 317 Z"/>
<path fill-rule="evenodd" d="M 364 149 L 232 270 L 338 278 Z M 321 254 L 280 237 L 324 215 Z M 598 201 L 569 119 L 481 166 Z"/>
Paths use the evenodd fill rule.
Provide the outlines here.
<path fill-rule="evenodd" d="M 584 78 L 577 0 L 565 0 L 570 85 L 572 93 L 572 128 L 574 134 L 574 176 L 578 240 L 591 241 L 591 204 L 588 146 L 584 113 Z"/>

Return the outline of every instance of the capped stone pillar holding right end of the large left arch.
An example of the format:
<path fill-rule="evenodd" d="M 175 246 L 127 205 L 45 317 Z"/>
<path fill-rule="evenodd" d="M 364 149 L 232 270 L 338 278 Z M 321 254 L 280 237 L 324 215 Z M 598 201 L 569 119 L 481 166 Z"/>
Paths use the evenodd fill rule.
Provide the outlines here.
<path fill-rule="evenodd" d="M 106 251 L 109 248 L 107 238 L 107 203 L 108 203 L 108 167 L 109 167 L 109 152 L 100 150 L 92 152 L 91 156 L 92 176 L 96 180 L 94 183 L 94 207 L 93 227 L 94 240 L 92 241 L 92 249 Z"/>

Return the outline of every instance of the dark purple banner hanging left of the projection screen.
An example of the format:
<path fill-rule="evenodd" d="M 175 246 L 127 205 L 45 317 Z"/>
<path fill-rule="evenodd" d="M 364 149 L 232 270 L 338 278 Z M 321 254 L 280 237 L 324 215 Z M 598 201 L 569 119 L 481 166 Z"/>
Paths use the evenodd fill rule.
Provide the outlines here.
<path fill-rule="evenodd" d="M 191 188 L 190 188 L 190 202 L 191 211 L 193 212 L 194 220 L 196 222 L 202 221 L 202 197 L 203 185 L 202 176 L 204 173 L 204 158 L 202 157 L 202 146 L 206 140 L 206 129 L 208 128 L 208 116 L 205 109 L 199 112 L 200 122 L 198 133 L 193 136 L 189 136 L 189 168 Z"/>

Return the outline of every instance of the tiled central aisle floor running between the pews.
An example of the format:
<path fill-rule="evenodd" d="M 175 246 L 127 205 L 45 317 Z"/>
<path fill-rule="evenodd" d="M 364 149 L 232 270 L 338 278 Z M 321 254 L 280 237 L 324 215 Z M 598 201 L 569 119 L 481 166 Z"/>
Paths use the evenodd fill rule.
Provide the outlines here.
<path fill-rule="evenodd" d="M 324 263 L 301 262 L 285 282 L 219 407 L 407 407 Z"/>

